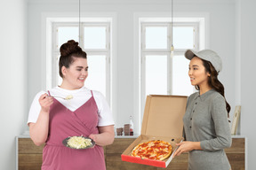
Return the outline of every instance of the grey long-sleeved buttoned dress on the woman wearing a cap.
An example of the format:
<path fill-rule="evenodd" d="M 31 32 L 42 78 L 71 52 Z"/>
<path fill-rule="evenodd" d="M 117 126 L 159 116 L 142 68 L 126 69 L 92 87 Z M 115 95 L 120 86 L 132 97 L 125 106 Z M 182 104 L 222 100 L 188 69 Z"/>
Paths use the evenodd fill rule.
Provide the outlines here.
<path fill-rule="evenodd" d="M 188 97 L 183 117 L 186 141 L 201 142 L 203 151 L 189 151 L 188 170 L 229 170 L 224 151 L 232 139 L 224 97 L 214 89 Z"/>

